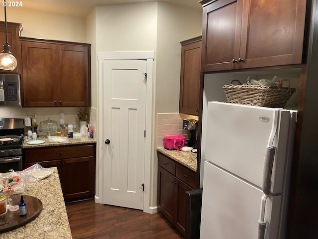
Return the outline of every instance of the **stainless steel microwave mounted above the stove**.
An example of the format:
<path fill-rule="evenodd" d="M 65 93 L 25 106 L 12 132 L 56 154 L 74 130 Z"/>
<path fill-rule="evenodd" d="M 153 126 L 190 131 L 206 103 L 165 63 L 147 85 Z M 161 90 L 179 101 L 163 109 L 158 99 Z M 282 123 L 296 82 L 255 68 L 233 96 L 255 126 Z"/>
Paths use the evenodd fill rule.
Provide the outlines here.
<path fill-rule="evenodd" d="M 21 106 L 20 75 L 0 74 L 0 106 Z"/>

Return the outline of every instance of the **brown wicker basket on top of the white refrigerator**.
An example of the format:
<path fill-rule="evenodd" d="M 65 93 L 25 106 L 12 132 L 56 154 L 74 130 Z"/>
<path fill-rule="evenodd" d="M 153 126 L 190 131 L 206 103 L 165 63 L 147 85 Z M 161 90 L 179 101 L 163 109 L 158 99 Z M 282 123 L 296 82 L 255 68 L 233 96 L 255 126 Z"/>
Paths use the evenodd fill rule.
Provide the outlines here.
<path fill-rule="evenodd" d="M 225 95 L 229 103 L 242 104 L 248 106 L 260 106 L 270 108 L 284 108 L 287 101 L 295 93 L 295 88 L 269 87 L 257 85 L 225 85 L 223 86 Z"/>

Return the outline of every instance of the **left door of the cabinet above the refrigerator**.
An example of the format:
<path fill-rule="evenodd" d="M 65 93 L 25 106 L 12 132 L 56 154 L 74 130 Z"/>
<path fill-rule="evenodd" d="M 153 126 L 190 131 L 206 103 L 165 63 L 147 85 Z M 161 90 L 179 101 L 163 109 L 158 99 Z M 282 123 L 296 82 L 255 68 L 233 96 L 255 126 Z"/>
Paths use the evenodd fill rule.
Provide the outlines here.
<path fill-rule="evenodd" d="M 216 0 L 203 8 L 202 71 L 238 68 L 243 0 Z"/>

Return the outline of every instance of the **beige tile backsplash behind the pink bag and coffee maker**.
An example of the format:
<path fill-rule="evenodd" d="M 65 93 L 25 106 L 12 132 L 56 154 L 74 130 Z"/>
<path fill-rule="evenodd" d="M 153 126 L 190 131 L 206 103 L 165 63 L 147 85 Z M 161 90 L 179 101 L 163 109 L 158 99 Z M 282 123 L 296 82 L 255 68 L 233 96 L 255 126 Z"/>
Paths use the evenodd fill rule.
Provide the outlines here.
<path fill-rule="evenodd" d="M 198 119 L 198 117 L 180 113 L 157 114 L 157 147 L 164 146 L 164 136 L 183 135 L 186 139 L 189 138 L 187 131 L 183 129 L 183 119 Z"/>

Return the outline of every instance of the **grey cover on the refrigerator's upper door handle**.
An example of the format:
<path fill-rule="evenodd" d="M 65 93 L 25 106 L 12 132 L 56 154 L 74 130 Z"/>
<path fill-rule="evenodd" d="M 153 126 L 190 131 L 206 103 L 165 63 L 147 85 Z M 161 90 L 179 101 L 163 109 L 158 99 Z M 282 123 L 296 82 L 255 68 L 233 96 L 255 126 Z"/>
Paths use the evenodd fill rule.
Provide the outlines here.
<path fill-rule="evenodd" d="M 270 187 L 272 184 L 274 156 L 275 156 L 275 147 L 266 146 L 264 168 L 263 168 L 263 180 L 262 180 L 262 191 L 265 195 L 270 194 Z"/>

